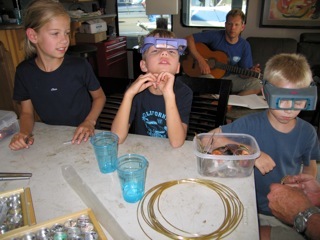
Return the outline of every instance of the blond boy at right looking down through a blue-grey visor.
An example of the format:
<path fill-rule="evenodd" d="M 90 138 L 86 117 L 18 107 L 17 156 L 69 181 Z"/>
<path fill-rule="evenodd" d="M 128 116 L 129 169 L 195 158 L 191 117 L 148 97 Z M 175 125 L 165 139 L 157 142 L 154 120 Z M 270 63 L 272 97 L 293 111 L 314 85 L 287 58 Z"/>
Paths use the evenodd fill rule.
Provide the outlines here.
<path fill-rule="evenodd" d="M 262 92 L 269 109 L 211 132 L 250 134 L 259 144 L 261 155 L 255 161 L 254 177 L 260 239 L 305 239 L 272 215 L 267 194 L 272 183 L 280 183 L 287 175 L 317 175 L 320 152 L 316 131 L 297 117 L 301 110 L 315 109 L 317 87 L 312 84 L 306 58 L 298 54 L 279 54 L 269 59 L 264 78 Z"/>

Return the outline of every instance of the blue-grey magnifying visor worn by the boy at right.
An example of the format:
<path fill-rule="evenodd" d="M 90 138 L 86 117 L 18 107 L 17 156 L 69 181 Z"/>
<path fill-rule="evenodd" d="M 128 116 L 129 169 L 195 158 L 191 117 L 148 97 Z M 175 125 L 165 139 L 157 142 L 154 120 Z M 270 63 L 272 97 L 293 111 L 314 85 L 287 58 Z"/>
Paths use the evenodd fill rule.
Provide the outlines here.
<path fill-rule="evenodd" d="M 306 88 L 278 88 L 267 80 L 262 81 L 263 93 L 272 109 L 315 110 L 317 86 L 311 83 Z"/>

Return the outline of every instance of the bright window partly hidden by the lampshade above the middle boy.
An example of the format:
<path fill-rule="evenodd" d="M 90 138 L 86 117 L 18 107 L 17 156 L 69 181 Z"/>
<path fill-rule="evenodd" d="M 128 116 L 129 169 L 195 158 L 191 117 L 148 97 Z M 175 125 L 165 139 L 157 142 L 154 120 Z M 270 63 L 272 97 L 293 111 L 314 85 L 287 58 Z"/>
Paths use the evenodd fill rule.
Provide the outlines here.
<path fill-rule="evenodd" d="M 119 35 L 146 35 L 156 28 L 156 19 L 168 19 L 168 29 L 171 30 L 171 15 L 146 15 L 144 0 L 117 0 Z"/>

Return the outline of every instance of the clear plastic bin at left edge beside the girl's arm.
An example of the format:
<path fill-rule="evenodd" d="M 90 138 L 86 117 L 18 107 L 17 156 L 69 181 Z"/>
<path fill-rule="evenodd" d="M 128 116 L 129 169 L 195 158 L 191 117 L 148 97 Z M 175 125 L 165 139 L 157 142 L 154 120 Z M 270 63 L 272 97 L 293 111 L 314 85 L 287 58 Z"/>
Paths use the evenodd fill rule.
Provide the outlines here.
<path fill-rule="evenodd" d="M 12 111 L 0 110 L 0 141 L 19 131 L 17 115 Z"/>

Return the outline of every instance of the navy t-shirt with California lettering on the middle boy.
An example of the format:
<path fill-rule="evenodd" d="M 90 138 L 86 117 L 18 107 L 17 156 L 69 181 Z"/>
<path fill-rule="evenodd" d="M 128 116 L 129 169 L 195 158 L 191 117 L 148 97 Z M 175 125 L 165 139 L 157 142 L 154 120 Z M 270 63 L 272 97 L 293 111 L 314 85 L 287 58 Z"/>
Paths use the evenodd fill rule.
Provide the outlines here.
<path fill-rule="evenodd" d="M 173 91 L 181 121 L 188 124 L 192 90 L 176 79 Z M 167 115 L 163 95 L 154 95 L 149 89 L 138 93 L 133 98 L 129 123 L 133 124 L 136 134 L 168 138 Z"/>

